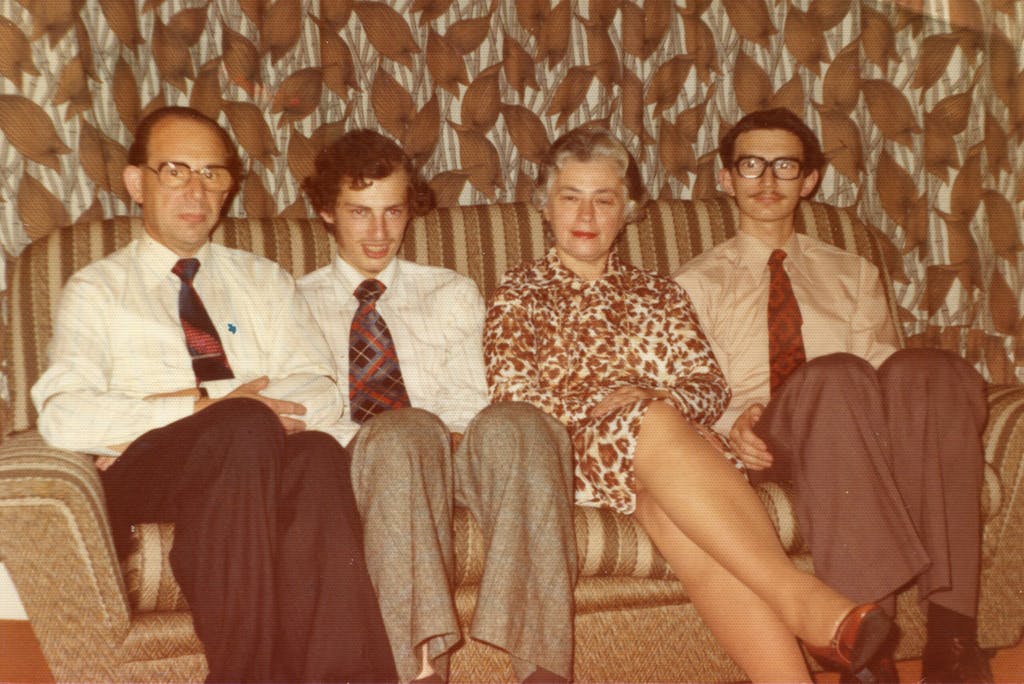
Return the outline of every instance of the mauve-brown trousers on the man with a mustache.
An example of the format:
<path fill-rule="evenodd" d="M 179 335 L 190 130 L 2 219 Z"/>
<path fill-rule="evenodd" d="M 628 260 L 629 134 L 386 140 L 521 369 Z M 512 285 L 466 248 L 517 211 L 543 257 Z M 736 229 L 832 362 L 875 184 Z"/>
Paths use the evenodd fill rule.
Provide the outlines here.
<path fill-rule="evenodd" d="M 786 380 L 756 431 L 791 480 L 818 576 L 855 601 L 914 581 L 921 599 L 967 615 L 978 603 L 985 382 L 959 356 L 905 349 L 876 371 L 851 354 Z"/>

